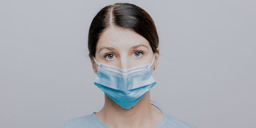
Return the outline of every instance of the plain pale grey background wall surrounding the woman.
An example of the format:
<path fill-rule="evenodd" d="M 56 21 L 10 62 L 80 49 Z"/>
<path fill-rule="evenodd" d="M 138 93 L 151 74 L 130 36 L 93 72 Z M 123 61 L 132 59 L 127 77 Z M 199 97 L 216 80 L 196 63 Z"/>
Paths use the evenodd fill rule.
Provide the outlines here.
<path fill-rule="evenodd" d="M 1 1 L 0 127 L 59 127 L 99 111 L 87 36 L 129 2 L 160 37 L 154 103 L 198 127 L 255 127 L 256 1 Z"/>

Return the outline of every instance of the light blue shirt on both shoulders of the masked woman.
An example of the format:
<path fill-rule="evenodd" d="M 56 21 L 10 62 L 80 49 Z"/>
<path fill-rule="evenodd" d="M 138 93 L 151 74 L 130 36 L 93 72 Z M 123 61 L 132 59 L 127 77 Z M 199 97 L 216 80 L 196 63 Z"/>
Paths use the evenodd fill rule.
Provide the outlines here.
<path fill-rule="evenodd" d="M 84 127 L 100 127 L 100 128 L 110 128 L 110 126 L 104 124 L 99 120 L 99 118 L 95 115 L 95 112 L 93 112 L 90 115 L 77 117 L 71 120 L 68 120 L 66 123 L 64 123 L 59 128 L 84 128 Z M 181 121 L 179 119 L 176 119 L 172 116 L 165 115 L 163 116 L 162 121 L 155 126 L 155 128 L 159 127 L 172 127 L 172 128 L 197 128 L 196 126 Z"/>

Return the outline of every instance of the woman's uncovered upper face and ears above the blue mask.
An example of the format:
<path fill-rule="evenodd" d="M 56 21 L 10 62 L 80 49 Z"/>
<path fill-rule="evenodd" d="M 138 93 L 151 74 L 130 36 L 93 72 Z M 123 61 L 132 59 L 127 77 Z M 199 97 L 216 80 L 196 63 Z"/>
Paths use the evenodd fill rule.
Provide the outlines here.
<path fill-rule="evenodd" d="M 159 51 L 159 48 L 157 50 Z M 152 71 L 158 65 L 158 56 L 158 53 L 155 53 Z M 143 36 L 129 29 L 113 27 L 100 35 L 95 53 L 96 61 L 123 70 L 151 63 L 153 57 L 150 43 Z M 96 73 L 98 65 L 92 57 L 90 58 Z"/>

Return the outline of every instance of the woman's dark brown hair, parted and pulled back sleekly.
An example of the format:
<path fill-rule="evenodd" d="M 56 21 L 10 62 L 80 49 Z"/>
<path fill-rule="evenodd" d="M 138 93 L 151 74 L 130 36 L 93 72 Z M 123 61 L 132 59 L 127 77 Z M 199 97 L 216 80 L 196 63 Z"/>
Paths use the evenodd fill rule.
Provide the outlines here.
<path fill-rule="evenodd" d="M 158 52 L 158 34 L 151 16 L 136 5 L 115 3 L 102 8 L 92 20 L 88 35 L 89 56 L 95 57 L 99 36 L 110 27 L 135 31 L 150 42 L 153 53 Z"/>

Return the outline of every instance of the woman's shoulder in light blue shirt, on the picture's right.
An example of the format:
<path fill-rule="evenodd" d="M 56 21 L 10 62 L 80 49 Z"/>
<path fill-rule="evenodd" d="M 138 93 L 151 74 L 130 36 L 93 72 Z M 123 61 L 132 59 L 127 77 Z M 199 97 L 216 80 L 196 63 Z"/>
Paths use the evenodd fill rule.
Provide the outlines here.
<path fill-rule="evenodd" d="M 162 122 L 157 127 L 174 127 L 174 128 L 197 128 L 196 126 L 182 121 L 180 119 L 177 119 L 173 116 L 164 114 L 164 118 Z"/>

